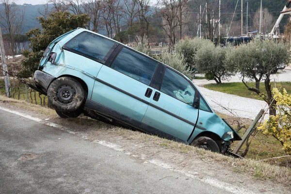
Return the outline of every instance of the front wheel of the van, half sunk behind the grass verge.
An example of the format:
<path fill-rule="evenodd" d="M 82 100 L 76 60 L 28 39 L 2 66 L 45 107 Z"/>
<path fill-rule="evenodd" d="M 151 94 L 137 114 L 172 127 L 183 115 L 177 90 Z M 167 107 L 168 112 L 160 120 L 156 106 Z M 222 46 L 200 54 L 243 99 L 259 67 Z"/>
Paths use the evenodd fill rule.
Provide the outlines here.
<path fill-rule="evenodd" d="M 203 149 L 206 149 L 206 150 L 210 150 L 212 152 L 219 153 L 218 145 L 210 137 L 205 137 L 205 136 L 197 137 L 191 143 L 191 146 L 196 146 L 196 147 L 200 147 L 200 148 L 203 148 Z"/>

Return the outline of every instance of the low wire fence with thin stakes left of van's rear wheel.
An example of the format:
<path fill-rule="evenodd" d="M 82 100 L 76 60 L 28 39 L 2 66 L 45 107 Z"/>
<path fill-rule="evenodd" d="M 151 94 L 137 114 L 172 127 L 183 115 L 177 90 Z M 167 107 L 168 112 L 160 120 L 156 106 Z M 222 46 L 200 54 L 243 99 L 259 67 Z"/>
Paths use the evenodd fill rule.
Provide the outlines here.
<path fill-rule="evenodd" d="M 48 97 L 33 90 L 26 84 L 18 81 L 15 78 L 10 78 L 11 98 L 18 100 L 25 100 L 32 104 L 39 104 L 41 106 L 48 106 Z M 0 95 L 5 95 L 4 79 L 0 79 Z"/>

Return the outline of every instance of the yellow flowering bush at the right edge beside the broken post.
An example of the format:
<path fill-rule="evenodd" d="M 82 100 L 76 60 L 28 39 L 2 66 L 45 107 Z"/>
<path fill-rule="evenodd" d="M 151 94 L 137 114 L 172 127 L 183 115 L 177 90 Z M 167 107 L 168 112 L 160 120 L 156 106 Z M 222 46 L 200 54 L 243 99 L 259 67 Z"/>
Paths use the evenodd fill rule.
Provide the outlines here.
<path fill-rule="evenodd" d="M 258 129 L 263 134 L 274 136 L 282 144 L 283 150 L 291 154 L 291 95 L 285 89 L 280 93 L 277 88 L 274 88 L 272 93 L 277 114 L 270 115 L 269 120 Z"/>

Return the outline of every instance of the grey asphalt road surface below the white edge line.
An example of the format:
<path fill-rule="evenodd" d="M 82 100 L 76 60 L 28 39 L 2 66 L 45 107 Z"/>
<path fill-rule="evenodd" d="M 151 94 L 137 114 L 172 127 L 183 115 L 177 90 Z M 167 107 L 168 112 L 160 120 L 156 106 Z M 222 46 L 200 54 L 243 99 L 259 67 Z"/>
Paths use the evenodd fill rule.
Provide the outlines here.
<path fill-rule="evenodd" d="M 2 110 L 0 193 L 227 194 L 199 180 Z"/>

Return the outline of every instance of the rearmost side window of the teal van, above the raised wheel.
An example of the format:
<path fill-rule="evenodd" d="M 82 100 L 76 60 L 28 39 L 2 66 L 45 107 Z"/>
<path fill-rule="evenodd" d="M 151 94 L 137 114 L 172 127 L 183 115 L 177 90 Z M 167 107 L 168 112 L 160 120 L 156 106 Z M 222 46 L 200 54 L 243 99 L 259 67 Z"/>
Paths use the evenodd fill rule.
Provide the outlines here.
<path fill-rule="evenodd" d="M 97 34 L 81 32 L 67 42 L 63 48 L 93 60 L 102 61 L 114 45 L 113 41 Z"/>

